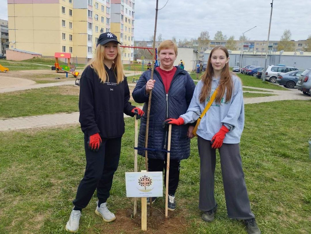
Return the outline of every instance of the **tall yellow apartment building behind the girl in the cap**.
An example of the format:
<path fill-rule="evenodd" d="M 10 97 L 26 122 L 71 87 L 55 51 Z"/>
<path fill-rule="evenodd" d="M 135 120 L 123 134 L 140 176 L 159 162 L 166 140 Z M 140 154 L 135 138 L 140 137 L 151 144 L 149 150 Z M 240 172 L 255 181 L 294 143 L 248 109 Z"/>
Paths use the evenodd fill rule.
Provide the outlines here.
<path fill-rule="evenodd" d="M 111 31 L 117 36 L 120 34 L 120 29 L 113 31 L 110 27 L 110 1 L 116 2 L 8 0 L 9 49 L 37 52 L 50 57 L 53 57 L 55 52 L 67 52 L 77 58 L 79 63 L 85 63 L 93 57 L 101 33 Z M 133 42 L 134 3 L 123 3 L 121 0 L 119 2 L 127 9 L 123 13 L 120 7 L 119 11 L 120 20 L 123 14 L 127 17 L 127 30 L 124 32 L 126 42 L 128 38 Z M 122 40 L 120 36 L 118 38 Z M 123 55 L 126 59 L 130 58 L 128 53 Z"/>

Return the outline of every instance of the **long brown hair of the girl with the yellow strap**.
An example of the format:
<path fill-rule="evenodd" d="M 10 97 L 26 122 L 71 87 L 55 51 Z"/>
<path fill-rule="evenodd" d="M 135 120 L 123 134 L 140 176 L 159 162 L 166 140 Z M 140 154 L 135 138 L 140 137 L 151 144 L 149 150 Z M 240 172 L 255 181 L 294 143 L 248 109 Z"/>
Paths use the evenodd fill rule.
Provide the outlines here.
<path fill-rule="evenodd" d="M 229 58 L 229 53 L 226 47 L 223 46 L 216 46 L 212 49 L 210 56 L 208 57 L 208 62 L 207 62 L 207 69 L 205 73 L 202 75 L 202 82 L 203 82 L 203 87 L 200 93 L 200 102 L 204 102 L 206 100 L 206 97 L 211 94 L 211 85 L 213 81 L 213 74 L 214 70 L 211 65 L 211 56 L 215 50 L 222 50 L 226 54 L 226 58 Z M 220 74 L 220 80 L 219 80 L 219 85 L 218 85 L 218 91 L 216 95 L 216 102 L 220 102 L 221 98 L 224 96 L 225 91 L 226 93 L 226 101 L 229 101 L 231 99 L 232 95 L 232 89 L 233 89 L 233 82 L 231 79 L 232 73 L 229 71 L 229 65 L 226 64 L 225 67 L 222 69 L 221 74 Z"/>

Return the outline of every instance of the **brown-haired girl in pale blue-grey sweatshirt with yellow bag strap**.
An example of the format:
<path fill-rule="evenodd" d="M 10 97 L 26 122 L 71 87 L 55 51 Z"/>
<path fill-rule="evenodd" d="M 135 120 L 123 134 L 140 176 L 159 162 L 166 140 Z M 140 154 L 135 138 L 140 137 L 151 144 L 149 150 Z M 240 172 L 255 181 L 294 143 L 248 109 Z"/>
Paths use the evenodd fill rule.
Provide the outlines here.
<path fill-rule="evenodd" d="M 214 47 L 208 58 L 207 70 L 194 90 L 187 112 L 178 119 L 167 119 L 165 122 L 177 125 L 195 122 L 217 90 L 215 100 L 196 131 L 200 155 L 199 209 L 203 211 L 203 220 L 213 221 L 217 210 L 214 173 L 218 149 L 228 216 L 243 219 L 249 234 L 260 234 L 250 209 L 239 147 L 244 128 L 242 83 L 229 71 L 228 62 L 228 50 L 223 46 Z M 191 131 L 188 137 L 194 137 Z"/>

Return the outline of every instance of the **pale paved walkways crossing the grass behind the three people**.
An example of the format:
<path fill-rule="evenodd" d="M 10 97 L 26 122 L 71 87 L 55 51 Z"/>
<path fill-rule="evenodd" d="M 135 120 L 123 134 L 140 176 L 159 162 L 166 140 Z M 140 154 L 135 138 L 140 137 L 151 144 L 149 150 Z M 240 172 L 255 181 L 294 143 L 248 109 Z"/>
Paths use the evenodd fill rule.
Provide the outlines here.
<path fill-rule="evenodd" d="M 0 89 L 0 92 L 12 92 L 17 90 L 26 90 L 31 88 L 43 88 L 43 87 L 51 87 L 58 85 L 74 85 L 74 81 L 66 81 L 66 82 L 58 82 L 58 83 L 46 83 L 46 84 L 34 84 L 28 85 L 24 87 L 16 87 L 16 88 L 4 88 Z M 130 86 L 135 86 L 135 84 L 129 82 Z M 252 98 L 244 98 L 244 103 L 260 103 L 260 102 L 268 102 L 268 101 L 282 101 L 282 100 L 310 100 L 311 97 L 308 97 L 297 89 L 289 89 L 289 90 L 275 90 L 275 89 L 266 89 L 266 88 L 255 88 L 255 87 L 247 87 L 244 88 L 252 88 L 265 90 L 267 92 L 257 92 L 257 91 L 244 91 L 244 92 L 253 92 L 253 93 L 269 93 L 274 94 L 275 96 L 268 97 L 252 97 Z M 129 117 L 128 115 L 124 115 L 124 117 Z M 50 126 L 59 126 L 64 124 L 78 124 L 79 123 L 79 112 L 74 113 L 58 113 L 52 115 L 38 115 L 38 116 L 27 116 L 27 117 L 18 117 L 18 118 L 8 118 L 8 119 L 0 119 L 0 131 L 8 131 L 8 130 L 18 130 L 25 128 L 38 128 L 38 127 L 50 127 Z"/>

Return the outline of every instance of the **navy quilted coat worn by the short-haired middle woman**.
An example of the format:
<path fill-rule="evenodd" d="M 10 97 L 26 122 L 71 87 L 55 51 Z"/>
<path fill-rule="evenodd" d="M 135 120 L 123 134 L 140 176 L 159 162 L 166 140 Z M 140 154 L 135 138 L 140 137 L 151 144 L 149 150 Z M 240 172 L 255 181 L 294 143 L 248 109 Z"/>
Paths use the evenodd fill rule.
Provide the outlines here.
<path fill-rule="evenodd" d="M 151 77 L 151 70 L 145 71 L 133 90 L 132 96 L 138 103 L 145 103 L 143 110 L 147 113 L 149 94 L 146 94 L 146 82 Z M 194 82 L 187 71 L 177 67 L 173 80 L 166 94 L 160 74 L 154 70 L 156 80 L 152 90 L 151 109 L 149 117 L 148 148 L 166 150 L 168 127 L 163 128 L 165 119 L 177 119 L 186 113 L 195 88 Z M 138 147 L 145 147 L 147 115 L 141 118 Z M 189 125 L 172 125 L 170 158 L 173 160 L 186 159 L 190 155 L 190 139 L 187 137 Z M 142 150 L 138 150 L 140 155 Z M 143 154 L 144 155 L 144 154 Z M 148 158 L 164 160 L 163 151 L 148 151 Z"/>

